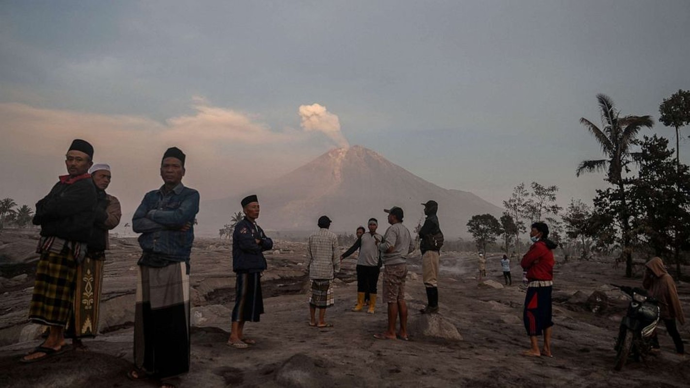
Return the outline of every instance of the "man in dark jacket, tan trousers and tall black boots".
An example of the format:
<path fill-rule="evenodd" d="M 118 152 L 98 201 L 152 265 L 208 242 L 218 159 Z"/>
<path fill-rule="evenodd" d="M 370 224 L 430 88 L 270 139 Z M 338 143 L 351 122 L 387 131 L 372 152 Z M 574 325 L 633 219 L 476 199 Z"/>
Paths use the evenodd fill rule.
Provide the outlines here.
<path fill-rule="evenodd" d="M 438 312 L 438 262 L 441 249 L 433 236 L 437 236 L 441 232 L 441 227 L 436 216 L 438 203 L 436 201 L 426 201 L 422 205 L 424 205 L 426 220 L 419 234 L 420 250 L 422 251 L 422 280 L 424 281 L 424 287 L 426 287 L 428 303 L 420 312 L 422 314 L 431 314 Z"/>

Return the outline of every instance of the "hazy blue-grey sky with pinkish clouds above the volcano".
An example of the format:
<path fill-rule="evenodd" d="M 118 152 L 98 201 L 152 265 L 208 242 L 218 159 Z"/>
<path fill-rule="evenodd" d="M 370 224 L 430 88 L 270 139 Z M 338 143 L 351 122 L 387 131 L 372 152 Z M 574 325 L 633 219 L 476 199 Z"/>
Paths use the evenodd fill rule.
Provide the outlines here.
<path fill-rule="evenodd" d="M 689 37 L 685 0 L 3 0 L 0 198 L 33 205 L 81 138 L 124 212 L 172 145 L 202 200 L 356 144 L 495 205 L 532 181 L 591 203 L 580 118 L 603 93 L 658 121 L 690 90 Z"/>

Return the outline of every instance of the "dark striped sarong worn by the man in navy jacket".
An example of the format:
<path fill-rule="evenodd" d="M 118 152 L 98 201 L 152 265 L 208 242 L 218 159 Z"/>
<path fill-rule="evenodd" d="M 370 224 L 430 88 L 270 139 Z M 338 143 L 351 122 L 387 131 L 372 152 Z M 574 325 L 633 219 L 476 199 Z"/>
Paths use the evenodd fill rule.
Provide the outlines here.
<path fill-rule="evenodd" d="M 259 272 L 238 272 L 235 280 L 235 307 L 233 322 L 259 322 L 264 314 L 264 296 L 261 292 Z"/>

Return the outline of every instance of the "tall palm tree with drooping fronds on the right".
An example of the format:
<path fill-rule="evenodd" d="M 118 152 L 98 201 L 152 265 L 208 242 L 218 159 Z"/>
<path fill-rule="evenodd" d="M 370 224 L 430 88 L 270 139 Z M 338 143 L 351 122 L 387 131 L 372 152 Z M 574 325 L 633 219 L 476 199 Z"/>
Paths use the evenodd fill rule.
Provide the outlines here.
<path fill-rule="evenodd" d="M 602 152 L 607 159 L 582 161 L 576 172 L 580 176 L 583 172 L 606 172 L 604 179 L 615 186 L 620 198 L 620 212 L 617 214 L 622 233 L 622 247 L 625 254 L 625 276 L 632 277 L 633 256 L 630 251 L 630 214 L 623 181 L 623 172 L 630 172 L 628 165 L 635 160 L 636 152 L 631 152 L 631 146 L 637 139 L 642 127 L 651 128 L 654 121 L 651 116 L 620 116 L 613 105 L 613 101 L 604 94 L 597 94 L 599 110 L 601 112 L 602 127 L 597 127 L 591 121 L 582 117 L 580 124 L 597 139 Z"/>

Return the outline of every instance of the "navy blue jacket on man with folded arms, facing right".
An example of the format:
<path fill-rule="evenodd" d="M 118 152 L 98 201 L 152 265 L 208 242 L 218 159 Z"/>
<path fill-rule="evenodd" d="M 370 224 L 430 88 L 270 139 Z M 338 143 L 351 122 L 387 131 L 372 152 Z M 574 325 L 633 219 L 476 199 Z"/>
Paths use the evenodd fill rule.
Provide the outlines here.
<path fill-rule="evenodd" d="M 257 244 L 261 240 L 261 244 Z M 266 269 L 264 251 L 273 248 L 273 240 L 264 229 L 246 217 L 235 225 L 233 232 L 233 272 L 262 272 Z"/>

